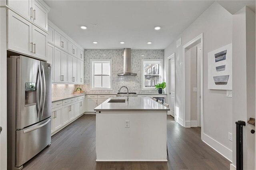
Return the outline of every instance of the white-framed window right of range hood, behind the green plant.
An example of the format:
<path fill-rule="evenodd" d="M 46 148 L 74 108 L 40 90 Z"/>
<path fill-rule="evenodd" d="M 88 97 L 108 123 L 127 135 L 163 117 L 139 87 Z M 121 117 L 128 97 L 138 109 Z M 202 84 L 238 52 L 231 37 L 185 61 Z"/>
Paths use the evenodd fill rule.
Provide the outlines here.
<path fill-rule="evenodd" d="M 142 59 L 142 90 L 153 90 L 162 83 L 164 73 L 162 59 Z"/>

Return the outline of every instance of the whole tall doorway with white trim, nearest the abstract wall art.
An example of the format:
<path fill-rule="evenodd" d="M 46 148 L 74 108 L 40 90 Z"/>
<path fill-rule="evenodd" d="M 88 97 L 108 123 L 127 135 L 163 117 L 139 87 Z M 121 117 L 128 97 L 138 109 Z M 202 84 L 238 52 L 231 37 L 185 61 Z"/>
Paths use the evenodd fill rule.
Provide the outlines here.
<path fill-rule="evenodd" d="M 201 134 L 204 131 L 203 115 L 203 34 L 200 34 L 183 46 L 183 82 L 184 82 L 184 127 L 201 126 Z M 191 50 L 194 48 L 196 53 L 196 82 L 191 85 Z M 196 103 L 191 99 L 191 94 L 195 94 Z M 191 102 L 193 100 L 193 102 Z M 191 105 L 195 105 L 195 117 L 191 116 Z M 192 119 L 191 119 L 192 118 Z"/>

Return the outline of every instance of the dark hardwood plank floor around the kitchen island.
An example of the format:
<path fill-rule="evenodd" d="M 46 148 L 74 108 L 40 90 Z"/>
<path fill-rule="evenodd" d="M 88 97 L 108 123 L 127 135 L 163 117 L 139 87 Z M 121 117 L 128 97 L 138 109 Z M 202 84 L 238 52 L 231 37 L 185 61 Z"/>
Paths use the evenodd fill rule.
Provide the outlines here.
<path fill-rule="evenodd" d="M 95 162 L 95 115 L 83 115 L 52 136 L 52 144 L 24 170 L 229 170 L 230 162 L 200 139 L 200 127 L 184 128 L 168 115 L 168 162 Z"/>

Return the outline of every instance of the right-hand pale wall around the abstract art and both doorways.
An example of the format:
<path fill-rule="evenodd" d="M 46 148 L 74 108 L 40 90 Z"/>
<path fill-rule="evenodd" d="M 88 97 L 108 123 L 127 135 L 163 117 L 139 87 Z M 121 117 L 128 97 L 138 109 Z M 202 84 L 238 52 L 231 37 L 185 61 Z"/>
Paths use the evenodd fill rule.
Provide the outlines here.
<path fill-rule="evenodd" d="M 176 107 L 180 119 L 183 118 L 183 59 L 182 46 L 190 40 L 204 34 L 203 67 L 204 67 L 204 133 L 203 140 L 218 152 L 232 160 L 232 142 L 228 140 L 228 132 L 232 132 L 232 98 L 226 97 L 226 91 L 208 90 L 207 53 L 224 45 L 232 43 L 232 14 L 217 2 L 212 4 L 198 19 L 196 19 L 179 37 L 182 45 L 176 48 L 176 42 L 164 50 L 165 68 L 167 57 L 172 53 L 176 56 Z M 168 73 L 165 72 L 166 82 Z M 168 97 L 169 98 L 169 97 Z"/>

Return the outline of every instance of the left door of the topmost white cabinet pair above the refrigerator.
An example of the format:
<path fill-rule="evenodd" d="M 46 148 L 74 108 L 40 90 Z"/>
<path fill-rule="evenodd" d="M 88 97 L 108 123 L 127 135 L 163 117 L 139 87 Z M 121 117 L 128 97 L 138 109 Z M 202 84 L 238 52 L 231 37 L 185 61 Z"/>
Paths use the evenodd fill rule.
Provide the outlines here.
<path fill-rule="evenodd" d="M 30 16 L 32 15 L 31 0 L 8 0 L 7 2 L 8 2 L 8 6 L 10 6 L 16 12 L 18 12 L 28 20 L 31 20 L 30 18 Z"/>

